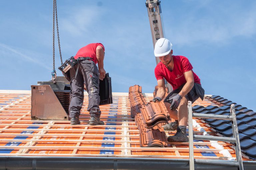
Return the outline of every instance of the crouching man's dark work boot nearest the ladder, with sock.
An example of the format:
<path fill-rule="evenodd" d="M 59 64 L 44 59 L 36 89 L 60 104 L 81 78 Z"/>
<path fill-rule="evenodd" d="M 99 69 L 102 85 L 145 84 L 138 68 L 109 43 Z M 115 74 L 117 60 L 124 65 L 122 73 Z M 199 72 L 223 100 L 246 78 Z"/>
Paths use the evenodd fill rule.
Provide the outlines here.
<path fill-rule="evenodd" d="M 187 127 L 185 126 L 178 126 L 177 132 L 173 136 L 169 136 L 167 138 L 168 142 L 188 142 L 188 136 L 186 134 Z"/>

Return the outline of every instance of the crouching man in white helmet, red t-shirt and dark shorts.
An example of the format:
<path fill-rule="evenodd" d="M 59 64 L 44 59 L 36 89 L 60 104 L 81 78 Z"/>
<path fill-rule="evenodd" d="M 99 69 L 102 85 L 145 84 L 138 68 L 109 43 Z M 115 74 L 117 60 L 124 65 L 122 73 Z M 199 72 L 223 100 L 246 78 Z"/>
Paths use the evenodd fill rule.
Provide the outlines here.
<path fill-rule="evenodd" d="M 160 62 L 155 68 L 158 90 L 153 102 L 161 101 L 165 96 L 165 81 L 172 85 L 173 91 L 168 94 L 164 104 L 175 122 L 164 126 L 165 130 L 176 130 L 169 142 L 187 142 L 186 127 L 188 124 L 187 103 L 194 103 L 199 97 L 203 100 L 204 89 L 199 77 L 193 72 L 189 60 L 180 55 L 172 55 L 172 44 L 165 38 L 155 44 L 154 53 Z"/>

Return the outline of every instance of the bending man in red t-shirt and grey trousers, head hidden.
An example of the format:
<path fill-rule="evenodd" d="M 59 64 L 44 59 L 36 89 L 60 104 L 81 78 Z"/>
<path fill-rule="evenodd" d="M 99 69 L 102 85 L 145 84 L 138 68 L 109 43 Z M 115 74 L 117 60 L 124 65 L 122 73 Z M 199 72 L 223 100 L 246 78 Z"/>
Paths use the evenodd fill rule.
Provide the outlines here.
<path fill-rule="evenodd" d="M 101 43 L 91 43 L 78 50 L 74 58 L 77 64 L 70 69 L 72 98 L 69 105 L 71 125 L 79 125 L 80 110 L 84 101 L 84 89 L 88 92 L 88 108 L 91 120 L 89 125 L 104 125 L 100 120 L 99 80 L 106 75 L 104 70 L 105 48 Z M 96 64 L 98 63 L 98 67 Z M 85 87 L 85 88 L 84 88 Z"/>

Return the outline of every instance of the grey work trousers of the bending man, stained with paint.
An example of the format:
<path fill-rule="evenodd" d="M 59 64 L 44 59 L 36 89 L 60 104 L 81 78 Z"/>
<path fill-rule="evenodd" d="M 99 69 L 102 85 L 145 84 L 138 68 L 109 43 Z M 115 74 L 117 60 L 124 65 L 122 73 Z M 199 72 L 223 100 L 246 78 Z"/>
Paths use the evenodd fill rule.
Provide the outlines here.
<path fill-rule="evenodd" d="M 78 69 L 77 75 L 76 70 Z M 84 84 L 88 93 L 89 104 L 87 111 L 91 117 L 99 118 L 99 69 L 92 60 L 78 61 L 70 69 L 71 101 L 69 105 L 69 117 L 79 117 L 84 101 Z"/>

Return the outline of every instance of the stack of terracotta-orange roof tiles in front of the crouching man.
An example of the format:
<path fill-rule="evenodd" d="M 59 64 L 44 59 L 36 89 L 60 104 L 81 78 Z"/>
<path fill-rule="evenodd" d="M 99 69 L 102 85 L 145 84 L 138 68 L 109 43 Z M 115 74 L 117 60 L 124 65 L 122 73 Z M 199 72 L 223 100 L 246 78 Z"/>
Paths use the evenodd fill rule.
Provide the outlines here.
<path fill-rule="evenodd" d="M 162 102 L 146 101 L 140 86 L 131 86 L 129 89 L 131 114 L 135 117 L 140 130 L 141 147 L 167 146 L 166 134 L 161 123 L 168 123 L 170 115 Z"/>

